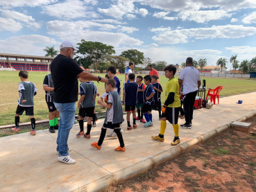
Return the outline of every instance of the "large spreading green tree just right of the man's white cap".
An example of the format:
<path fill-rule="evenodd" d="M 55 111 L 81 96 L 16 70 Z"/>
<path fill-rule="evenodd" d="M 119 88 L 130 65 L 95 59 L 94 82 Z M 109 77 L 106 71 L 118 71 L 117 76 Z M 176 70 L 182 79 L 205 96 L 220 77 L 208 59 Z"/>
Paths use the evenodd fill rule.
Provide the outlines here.
<path fill-rule="evenodd" d="M 86 60 L 91 60 L 92 64 L 94 64 L 95 71 L 98 70 L 99 64 L 103 62 L 108 55 L 116 53 L 114 51 L 114 46 L 103 44 L 101 42 L 87 42 L 81 40 L 78 45 L 79 51 L 77 51 L 77 53 L 84 55 Z"/>

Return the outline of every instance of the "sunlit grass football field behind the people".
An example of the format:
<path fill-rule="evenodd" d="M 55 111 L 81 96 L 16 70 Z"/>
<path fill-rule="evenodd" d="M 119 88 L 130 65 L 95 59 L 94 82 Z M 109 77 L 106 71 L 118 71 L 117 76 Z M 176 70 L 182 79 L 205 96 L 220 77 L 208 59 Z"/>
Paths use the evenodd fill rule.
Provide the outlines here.
<path fill-rule="evenodd" d="M 19 98 L 18 94 L 18 84 L 20 82 L 19 71 L 0 71 L 0 125 L 13 124 L 15 119 L 15 111 L 17 107 L 17 100 Z M 31 82 L 35 83 L 37 87 L 37 95 L 35 96 L 35 119 L 42 120 L 48 119 L 48 108 L 44 100 L 44 90 L 43 90 L 43 80 L 46 76 L 46 72 L 29 72 L 29 78 Z M 98 74 L 105 76 L 105 74 Z M 124 82 L 124 74 L 118 74 L 117 77 L 121 80 L 121 88 Z M 176 78 L 178 78 L 176 76 Z M 234 94 L 243 94 L 248 91 L 256 91 L 256 80 L 255 79 L 241 79 L 241 78 L 204 78 L 206 80 L 207 87 L 212 89 L 222 85 L 223 90 L 221 91 L 221 96 L 231 96 Z M 167 78 L 165 76 L 160 76 L 160 84 L 162 85 L 163 91 L 165 91 L 165 86 L 167 84 Z M 104 84 L 97 83 L 99 94 L 105 92 Z M 121 92 L 122 96 L 122 92 Z M 164 94 L 162 94 L 164 98 Z M 97 98 L 96 98 L 97 100 Z M 164 99 L 162 99 L 163 102 Z M 96 111 L 101 111 L 99 105 L 96 105 Z M 78 113 L 78 110 L 76 114 Z M 30 121 L 28 116 L 21 116 L 22 122 Z"/>

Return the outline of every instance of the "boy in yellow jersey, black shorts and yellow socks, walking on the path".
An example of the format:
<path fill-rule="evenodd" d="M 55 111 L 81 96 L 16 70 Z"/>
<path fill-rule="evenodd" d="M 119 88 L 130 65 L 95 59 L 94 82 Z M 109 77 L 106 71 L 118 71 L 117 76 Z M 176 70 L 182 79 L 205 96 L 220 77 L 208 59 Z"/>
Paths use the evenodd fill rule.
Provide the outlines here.
<path fill-rule="evenodd" d="M 176 67 L 174 67 L 173 64 L 165 67 L 164 72 L 165 77 L 169 78 L 169 81 L 167 82 L 165 102 L 164 106 L 162 107 L 160 134 L 157 136 L 152 136 L 152 138 L 158 141 L 164 141 L 164 132 L 167 128 L 168 120 L 173 125 L 173 130 L 175 134 L 171 145 L 176 146 L 178 145 L 178 143 L 180 143 L 178 124 L 178 116 L 180 111 L 180 86 L 178 80 L 174 77 L 176 73 Z"/>

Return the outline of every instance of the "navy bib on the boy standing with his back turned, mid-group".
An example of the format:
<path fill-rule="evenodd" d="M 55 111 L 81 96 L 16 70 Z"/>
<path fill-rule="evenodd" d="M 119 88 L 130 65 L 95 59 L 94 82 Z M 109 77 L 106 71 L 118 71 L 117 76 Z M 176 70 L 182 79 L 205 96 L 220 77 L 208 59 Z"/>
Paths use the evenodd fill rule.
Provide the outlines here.
<path fill-rule="evenodd" d="M 125 105 L 136 105 L 137 104 L 137 93 L 139 85 L 137 82 L 127 82 L 124 84 L 123 91 Z"/>

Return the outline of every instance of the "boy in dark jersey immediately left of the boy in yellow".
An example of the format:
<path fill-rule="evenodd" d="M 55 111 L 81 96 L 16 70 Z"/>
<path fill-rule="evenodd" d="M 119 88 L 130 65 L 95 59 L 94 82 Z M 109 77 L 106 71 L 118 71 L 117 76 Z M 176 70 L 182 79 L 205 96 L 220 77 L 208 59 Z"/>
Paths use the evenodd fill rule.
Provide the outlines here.
<path fill-rule="evenodd" d="M 157 79 L 158 79 L 157 76 L 153 75 L 151 76 L 151 78 L 152 78 L 153 89 L 155 90 L 155 95 L 154 95 L 155 104 L 152 106 L 152 109 L 155 111 L 158 111 L 159 120 L 160 120 L 161 110 L 162 110 L 162 105 L 161 105 L 162 86 L 160 85 L 159 82 L 157 82 Z"/>

